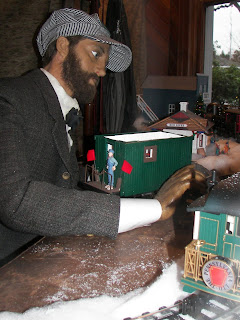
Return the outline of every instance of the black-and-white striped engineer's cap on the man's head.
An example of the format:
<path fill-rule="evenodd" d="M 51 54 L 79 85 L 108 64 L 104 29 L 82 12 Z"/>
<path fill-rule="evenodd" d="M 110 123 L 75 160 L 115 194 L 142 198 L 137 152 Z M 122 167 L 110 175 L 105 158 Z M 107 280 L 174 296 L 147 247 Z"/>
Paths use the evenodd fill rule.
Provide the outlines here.
<path fill-rule="evenodd" d="M 59 37 L 81 35 L 88 39 L 110 45 L 107 68 L 111 71 L 125 71 L 131 61 L 132 52 L 126 45 L 110 38 L 110 33 L 97 14 L 88 15 L 76 9 L 54 11 L 42 26 L 38 36 L 38 50 L 43 57 L 49 44 Z"/>

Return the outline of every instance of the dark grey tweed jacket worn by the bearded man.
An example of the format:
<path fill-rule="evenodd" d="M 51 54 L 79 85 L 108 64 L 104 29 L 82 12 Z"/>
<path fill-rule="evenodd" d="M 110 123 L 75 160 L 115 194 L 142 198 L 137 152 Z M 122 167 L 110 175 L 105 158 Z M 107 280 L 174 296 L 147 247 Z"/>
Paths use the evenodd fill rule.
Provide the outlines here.
<path fill-rule="evenodd" d="M 58 98 L 37 69 L 0 81 L 0 258 L 36 235 L 116 237 L 119 197 L 77 189 Z"/>

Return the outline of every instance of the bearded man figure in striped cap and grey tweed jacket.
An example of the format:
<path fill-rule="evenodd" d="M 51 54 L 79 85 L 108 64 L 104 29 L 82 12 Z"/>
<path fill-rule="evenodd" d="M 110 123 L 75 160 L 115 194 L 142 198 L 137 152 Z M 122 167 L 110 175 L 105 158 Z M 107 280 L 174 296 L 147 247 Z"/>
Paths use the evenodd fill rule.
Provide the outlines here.
<path fill-rule="evenodd" d="M 168 217 L 193 176 L 192 168 L 190 175 L 181 171 L 181 188 L 174 178 L 173 186 L 144 205 L 143 199 L 79 190 L 69 135 L 79 104 L 93 100 L 106 68 L 126 70 L 132 53 L 110 38 L 97 15 L 75 9 L 53 12 L 37 44 L 43 68 L 0 81 L 0 259 L 37 236 L 115 238 Z"/>

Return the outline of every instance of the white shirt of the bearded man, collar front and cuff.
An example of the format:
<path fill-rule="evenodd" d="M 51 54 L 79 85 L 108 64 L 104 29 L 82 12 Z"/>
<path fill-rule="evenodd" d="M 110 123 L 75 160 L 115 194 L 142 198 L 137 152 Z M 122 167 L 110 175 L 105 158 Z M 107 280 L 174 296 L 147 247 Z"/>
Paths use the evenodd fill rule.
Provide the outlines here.
<path fill-rule="evenodd" d="M 45 69 L 41 69 L 48 77 L 54 91 L 58 97 L 64 120 L 66 120 L 67 113 L 75 108 L 79 110 L 79 105 L 76 99 L 70 97 L 58 80 Z M 69 148 L 73 141 L 68 133 L 71 128 L 66 124 L 66 132 L 68 136 Z M 157 221 L 162 214 L 162 206 L 158 200 L 155 199 L 120 199 L 120 217 L 118 232 L 126 232 L 135 228 L 143 227 Z"/>

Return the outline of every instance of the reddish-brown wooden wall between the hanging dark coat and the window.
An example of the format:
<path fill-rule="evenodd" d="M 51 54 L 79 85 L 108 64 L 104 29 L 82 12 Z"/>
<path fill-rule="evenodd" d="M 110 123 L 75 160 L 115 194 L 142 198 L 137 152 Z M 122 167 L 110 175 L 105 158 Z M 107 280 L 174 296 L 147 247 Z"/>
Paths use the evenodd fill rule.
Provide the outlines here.
<path fill-rule="evenodd" d="M 137 93 L 142 93 L 144 84 L 152 76 L 192 77 L 197 73 L 203 73 L 206 9 L 204 2 L 138 0 L 142 21 L 135 18 L 138 6 L 134 2 L 125 0 L 124 5 L 133 44 Z"/>

